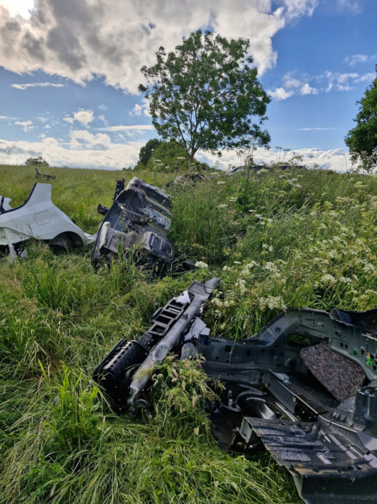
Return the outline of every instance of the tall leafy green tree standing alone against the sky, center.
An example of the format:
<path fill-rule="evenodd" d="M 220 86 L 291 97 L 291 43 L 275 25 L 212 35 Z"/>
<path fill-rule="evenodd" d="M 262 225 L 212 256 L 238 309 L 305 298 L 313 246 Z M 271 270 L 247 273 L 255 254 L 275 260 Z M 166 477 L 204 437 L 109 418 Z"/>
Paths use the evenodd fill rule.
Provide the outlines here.
<path fill-rule="evenodd" d="M 156 64 L 141 69 L 148 86 L 139 91 L 150 100 L 152 123 L 164 140 L 184 149 L 190 167 L 199 149 L 220 156 L 220 149 L 236 148 L 246 136 L 261 146 L 270 141 L 262 123 L 271 98 L 250 67 L 249 45 L 198 30 L 175 52 L 160 47 Z"/>

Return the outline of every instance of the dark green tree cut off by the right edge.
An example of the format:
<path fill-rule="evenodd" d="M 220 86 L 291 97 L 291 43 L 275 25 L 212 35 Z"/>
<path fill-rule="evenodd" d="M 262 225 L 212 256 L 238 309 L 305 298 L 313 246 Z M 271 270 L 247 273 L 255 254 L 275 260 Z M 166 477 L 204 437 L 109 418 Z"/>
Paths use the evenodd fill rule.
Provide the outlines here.
<path fill-rule="evenodd" d="M 377 73 L 377 65 L 375 66 Z M 377 166 L 377 76 L 358 100 L 359 111 L 355 128 L 350 130 L 344 141 L 351 153 L 351 159 L 360 161 L 367 170 Z"/>

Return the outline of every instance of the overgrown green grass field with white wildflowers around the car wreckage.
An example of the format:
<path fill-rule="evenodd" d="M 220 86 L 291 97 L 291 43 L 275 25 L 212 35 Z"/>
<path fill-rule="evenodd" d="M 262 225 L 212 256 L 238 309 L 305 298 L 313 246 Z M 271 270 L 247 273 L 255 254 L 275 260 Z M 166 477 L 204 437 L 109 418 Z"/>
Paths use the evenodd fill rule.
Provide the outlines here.
<path fill-rule="evenodd" d="M 115 179 L 150 172 L 48 168 L 52 200 L 87 232 Z M 173 175 L 174 176 L 174 175 Z M 157 184 L 171 176 L 157 175 Z M 0 259 L 0 504 L 300 502 L 269 455 L 216 445 L 196 363 L 161 366 L 152 415 L 115 417 L 91 374 L 121 338 L 138 339 L 158 306 L 194 280 L 220 276 L 206 315 L 212 334 L 248 337 L 285 307 L 377 306 L 377 179 L 287 170 L 171 188 L 169 238 L 208 264 L 150 281 L 133 264 L 95 273 L 90 249 Z M 33 168 L 0 166 L 0 194 L 20 204 Z M 156 373 L 157 374 L 157 373 Z"/>

